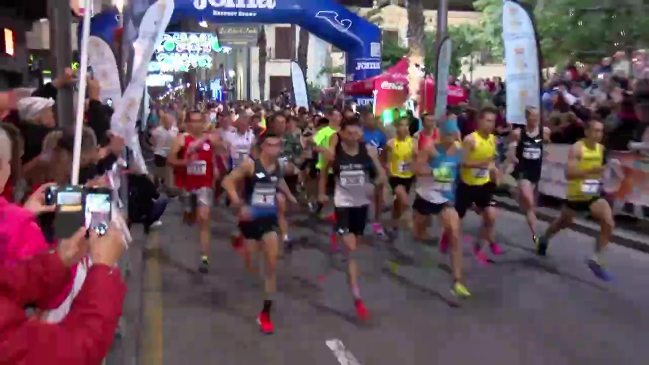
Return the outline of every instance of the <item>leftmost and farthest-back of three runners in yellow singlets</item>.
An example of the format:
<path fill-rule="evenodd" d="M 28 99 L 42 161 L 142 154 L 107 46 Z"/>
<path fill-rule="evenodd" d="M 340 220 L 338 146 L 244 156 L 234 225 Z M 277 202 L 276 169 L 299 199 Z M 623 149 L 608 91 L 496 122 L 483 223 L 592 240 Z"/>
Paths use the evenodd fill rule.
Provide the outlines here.
<path fill-rule="evenodd" d="M 392 207 L 392 219 L 397 221 L 402 218 L 410 228 L 412 216 L 408 210 L 410 210 L 410 187 L 414 181 L 412 168 L 417 143 L 411 138 L 408 125 L 408 118 L 397 122 L 397 135 L 387 141 L 386 152 L 390 173 L 389 183 L 396 197 Z M 393 233 L 396 231 L 397 227 L 394 227 Z"/>

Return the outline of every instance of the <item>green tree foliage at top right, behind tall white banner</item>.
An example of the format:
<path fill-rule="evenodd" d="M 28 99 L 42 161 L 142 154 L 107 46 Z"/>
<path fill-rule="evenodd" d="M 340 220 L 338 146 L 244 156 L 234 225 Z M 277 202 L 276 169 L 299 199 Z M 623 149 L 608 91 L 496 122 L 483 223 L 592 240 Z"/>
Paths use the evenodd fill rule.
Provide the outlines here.
<path fill-rule="evenodd" d="M 533 9 L 543 66 L 554 66 L 566 58 L 594 62 L 626 47 L 646 47 L 649 28 L 646 6 L 635 0 L 520 0 Z M 480 42 L 496 57 L 502 57 L 502 0 L 476 0 L 481 13 Z"/>

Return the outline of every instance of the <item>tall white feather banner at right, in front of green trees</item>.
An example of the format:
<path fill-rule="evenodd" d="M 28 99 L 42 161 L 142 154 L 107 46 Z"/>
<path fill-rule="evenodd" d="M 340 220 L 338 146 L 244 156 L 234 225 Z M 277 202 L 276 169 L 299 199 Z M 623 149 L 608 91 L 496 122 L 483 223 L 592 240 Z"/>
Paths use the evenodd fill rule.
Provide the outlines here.
<path fill-rule="evenodd" d="M 506 0 L 502 8 L 508 123 L 525 124 L 525 109 L 540 110 L 539 49 L 530 13 Z"/>

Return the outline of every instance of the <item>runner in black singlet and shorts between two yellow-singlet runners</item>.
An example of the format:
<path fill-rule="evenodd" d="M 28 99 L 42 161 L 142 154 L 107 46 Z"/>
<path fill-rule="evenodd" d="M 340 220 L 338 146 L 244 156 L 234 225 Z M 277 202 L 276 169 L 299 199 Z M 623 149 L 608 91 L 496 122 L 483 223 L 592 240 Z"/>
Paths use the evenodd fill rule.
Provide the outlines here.
<path fill-rule="evenodd" d="M 539 245 L 536 235 L 536 214 L 534 188 L 541 180 L 541 166 L 543 164 L 543 144 L 550 142 L 550 129 L 541 127 L 539 114 L 535 108 L 525 110 L 527 124 L 520 129 L 515 129 L 509 134 L 509 155 L 516 166 L 511 176 L 517 181 L 517 199 L 519 205 L 526 213 L 532 240 Z"/>

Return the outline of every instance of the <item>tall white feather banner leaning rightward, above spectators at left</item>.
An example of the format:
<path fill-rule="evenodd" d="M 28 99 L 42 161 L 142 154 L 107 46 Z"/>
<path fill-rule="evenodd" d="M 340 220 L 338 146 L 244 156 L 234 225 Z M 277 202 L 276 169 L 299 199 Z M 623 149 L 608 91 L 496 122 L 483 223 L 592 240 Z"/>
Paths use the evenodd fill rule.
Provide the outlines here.
<path fill-rule="evenodd" d="M 140 149 L 136 122 L 140 117 L 140 103 L 146 87 L 149 60 L 153 56 L 156 44 L 162 40 L 173 8 L 173 0 L 158 0 L 149 6 L 141 18 L 140 27 L 136 30 L 137 38 L 133 43 L 131 78 L 110 121 L 112 131 L 123 136 L 127 146 L 133 151 L 136 164 L 143 172 L 146 172 L 147 168 Z"/>

